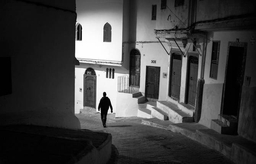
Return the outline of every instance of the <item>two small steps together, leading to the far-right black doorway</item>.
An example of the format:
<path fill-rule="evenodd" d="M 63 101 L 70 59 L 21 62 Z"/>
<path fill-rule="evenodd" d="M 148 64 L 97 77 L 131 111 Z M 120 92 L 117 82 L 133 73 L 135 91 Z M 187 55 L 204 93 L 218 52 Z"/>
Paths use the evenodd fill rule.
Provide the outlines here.
<path fill-rule="evenodd" d="M 211 120 L 211 129 L 220 134 L 237 135 L 238 122 L 234 116 L 219 114 L 218 119 Z"/>

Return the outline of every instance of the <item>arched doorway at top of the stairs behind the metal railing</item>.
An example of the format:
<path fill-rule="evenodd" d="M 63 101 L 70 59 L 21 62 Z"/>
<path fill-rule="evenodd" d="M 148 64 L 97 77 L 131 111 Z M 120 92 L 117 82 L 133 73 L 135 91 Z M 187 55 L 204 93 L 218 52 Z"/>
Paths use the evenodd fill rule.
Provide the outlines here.
<path fill-rule="evenodd" d="M 137 49 L 130 52 L 130 80 L 129 84 L 133 87 L 139 87 L 141 72 L 141 53 Z"/>

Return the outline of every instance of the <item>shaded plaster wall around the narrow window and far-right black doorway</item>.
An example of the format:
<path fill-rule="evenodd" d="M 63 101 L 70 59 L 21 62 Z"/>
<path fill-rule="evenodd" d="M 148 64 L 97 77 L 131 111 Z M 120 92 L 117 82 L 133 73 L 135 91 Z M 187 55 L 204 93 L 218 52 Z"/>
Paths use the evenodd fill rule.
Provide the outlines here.
<path fill-rule="evenodd" d="M 208 32 L 208 39 L 210 40 L 220 40 L 220 53 L 219 53 L 219 66 L 218 66 L 218 75 L 217 80 L 209 77 L 210 68 L 211 68 L 211 51 L 212 51 L 212 42 L 207 41 L 207 52 L 206 52 L 206 62 L 205 62 L 205 71 L 204 71 L 204 80 L 205 85 L 211 84 L 220 84 L 223 87 L 224 78 L 225 78 L 225 68 L 227 62 L 227 51 L 228 51 L 228 42 L 235 42 L 236 39 L 239 39 L 239 42 L 247 42 L 247 53 L 246 53 L 246 65 L 245 65 L 245 76 L 251 77 L 250 87 L 256 86 L 256 64 L 255 62 L 255 43 L 252 45 L 250 43 L 250 39 L 252 36 L 256 36 L 256 32 L 254 31 L 219 31 L 219 32 Z M 222 97 L 222 87 L 220 88 L 216 85 L 216 90 L 218 92 L 205 92 L 203 93 L 203 99 L 208 97 L 209 94 L 214 96 L 209 100 L 209 102 L 203 101 L 202 104 L 202 116 L 200 119 L 200 123 L 210 127 L 211 119 L 217 119 L 218 114 L 220 114 L 220 106 L 221 106 L 221 97 Z M 209 106 L 209 103 L 214 105 Z M 210 114 L 211 113 L 211 114 Z M 205 118 L 204 118 L 205 117 Z"/>

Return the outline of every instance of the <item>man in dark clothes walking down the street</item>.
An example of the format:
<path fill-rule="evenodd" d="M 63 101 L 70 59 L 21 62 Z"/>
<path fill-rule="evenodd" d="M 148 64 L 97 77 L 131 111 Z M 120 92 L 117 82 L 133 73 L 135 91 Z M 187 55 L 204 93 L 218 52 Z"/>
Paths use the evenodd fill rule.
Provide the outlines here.
<path fill-rule="evenodd" d="M 101 111 L 101 121 L 103 124 L 103 127 L 106 126 L 106 121 L 107 121 L 107 112 L 109 110 L 109 107 L 111 109 L 111 113 L 113 113 L 113 108 L 110 102 L 110 99 L 106 97 L 107 93 L 103 92 L 103 97 L 100 99 L 99 107 L 98 110 Z"/>

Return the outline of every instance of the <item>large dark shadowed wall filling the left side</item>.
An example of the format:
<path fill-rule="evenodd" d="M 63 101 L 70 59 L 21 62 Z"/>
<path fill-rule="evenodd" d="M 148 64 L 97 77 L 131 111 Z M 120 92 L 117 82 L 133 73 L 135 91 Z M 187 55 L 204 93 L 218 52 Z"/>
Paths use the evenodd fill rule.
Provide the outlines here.
<path fill-rule="evenodd" d="M 75 0 L 35 2 L 75 11 Z M 12 93 L 0 96 L 0 124 L 80 128 L 73 104 L 75 14 L 13 0 L 0 1 L 0 13 L 6 25 L 0 56 L 11 57 L 12 78 Z"/>

